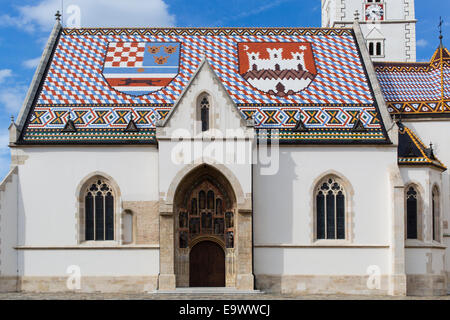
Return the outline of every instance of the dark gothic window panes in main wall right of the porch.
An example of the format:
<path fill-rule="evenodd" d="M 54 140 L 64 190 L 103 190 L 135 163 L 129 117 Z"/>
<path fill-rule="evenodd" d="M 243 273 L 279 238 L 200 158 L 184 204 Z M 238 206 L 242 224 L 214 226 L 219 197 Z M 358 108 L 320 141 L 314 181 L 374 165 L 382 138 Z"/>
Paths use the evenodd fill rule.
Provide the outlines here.
<path fill-rule="evenodd" d="M 335 178 L 316 189 L 316 238 L 345 239 L 345 190 Z"/>

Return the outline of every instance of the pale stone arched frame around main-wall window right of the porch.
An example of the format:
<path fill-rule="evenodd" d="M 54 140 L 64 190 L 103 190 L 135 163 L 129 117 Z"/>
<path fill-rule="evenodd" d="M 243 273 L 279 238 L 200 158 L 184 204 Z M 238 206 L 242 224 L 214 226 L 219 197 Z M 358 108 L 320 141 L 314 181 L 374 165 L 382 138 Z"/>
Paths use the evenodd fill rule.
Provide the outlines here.
<path fill-rule="evenodd" d="M 343 190 L 344 193 L 344 239 L 320 239 L 318 238 L 318 208 L 317 208 L 317 195 L 319 193 L 319 188 L 320 186 L 328 181 L 329 179 L 332 179 L 333 181 L 337 182 Z M 353 219 L 354 219 L 354 214 L 353 214 L 353 195 L 354 195 L 354 191 L 353 188 L 351 186 L 351 184 L 349 183 L 349 181 L 347 179 L 345 179 L 343 177 L 343 175 L 336 173 L 334 171 L 330 171 L 328 173 L 325 173 L 324 175 L 322 175 L 319 179 L 317 179 L 313 185 L 313 190 L 312 190 L 312 208 L 313 208 L 313 213 L 312 213 L 312 242 L 316 245 L 321 245 L 326 243 L 326 245 L 342 245 L 342 244 L 348 244 L 351 243 L 353 241 L 354 238 L 354 234 L 353 234 Z"/>

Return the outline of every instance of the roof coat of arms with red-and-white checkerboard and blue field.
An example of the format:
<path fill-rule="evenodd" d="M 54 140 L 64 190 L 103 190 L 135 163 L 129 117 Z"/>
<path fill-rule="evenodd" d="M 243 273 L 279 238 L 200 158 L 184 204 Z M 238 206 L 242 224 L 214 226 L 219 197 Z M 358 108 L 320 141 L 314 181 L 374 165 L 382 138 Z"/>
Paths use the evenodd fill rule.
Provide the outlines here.
<path fill-rule="evenodd" d="M 179 66 L 178 42 L 110 42 L 103 77 L 121 93 L 142 96 L 166 87 Z"/>

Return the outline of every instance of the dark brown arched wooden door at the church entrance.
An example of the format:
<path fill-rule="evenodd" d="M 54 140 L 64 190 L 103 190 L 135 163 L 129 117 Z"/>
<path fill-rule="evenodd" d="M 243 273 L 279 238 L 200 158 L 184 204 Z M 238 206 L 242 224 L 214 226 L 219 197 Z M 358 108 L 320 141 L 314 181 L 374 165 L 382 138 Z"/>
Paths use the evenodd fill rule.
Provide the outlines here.
<path fill-rule="evenodd" d="M 190 287 L 225 287 L 225 253 L 215 242 L 196 244 L 189 255 Z"/>

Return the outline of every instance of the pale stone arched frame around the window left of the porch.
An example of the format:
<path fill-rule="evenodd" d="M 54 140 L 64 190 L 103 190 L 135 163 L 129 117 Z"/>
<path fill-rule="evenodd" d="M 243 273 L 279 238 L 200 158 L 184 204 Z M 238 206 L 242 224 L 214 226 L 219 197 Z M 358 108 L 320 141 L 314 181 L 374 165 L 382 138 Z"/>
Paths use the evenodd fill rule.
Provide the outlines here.
<path fill-rule="evenodd" d="M 86 195 L 87 189 L 95 181 L 102 180 L 108 184 L 113 194 L 113 240 L 86 240 Z M 84 178 L 77 187 L 77 242 L 78 244 L 93 244 L 100 246 L 122 244 L 123 226 L 120 212 L 120 189 L 112 177 L 102 172 L 94 172 Z"/>

